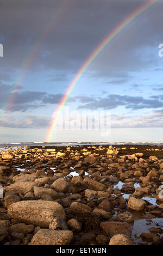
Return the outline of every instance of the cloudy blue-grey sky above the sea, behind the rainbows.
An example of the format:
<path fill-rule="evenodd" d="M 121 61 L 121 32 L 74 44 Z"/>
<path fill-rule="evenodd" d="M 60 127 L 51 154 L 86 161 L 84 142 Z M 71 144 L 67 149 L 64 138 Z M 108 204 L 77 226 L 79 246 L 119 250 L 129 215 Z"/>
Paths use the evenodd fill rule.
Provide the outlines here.
<path fill-rule="evenodd" d="M 146 2 L 0 0 L 0 142 L 45 141 L 85 60 Z M 81 116 L 109 111 L 109 132 L 57 130 L 52 142 L 163 141 L 162 21 L 160 0 L 105 47 L 66 103 Z"/>

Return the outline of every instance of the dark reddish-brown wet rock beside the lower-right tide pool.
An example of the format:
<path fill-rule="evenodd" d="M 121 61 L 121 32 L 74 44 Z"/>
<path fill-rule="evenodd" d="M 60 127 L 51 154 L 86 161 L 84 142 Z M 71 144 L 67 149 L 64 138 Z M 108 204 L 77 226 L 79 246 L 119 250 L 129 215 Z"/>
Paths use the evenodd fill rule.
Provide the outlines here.
<path fill-rule="evenodd" d="M 131 237 L 131 226 L 127 222 L 101 222 L 100 227 L 111 237 L 117 234 Z"/>

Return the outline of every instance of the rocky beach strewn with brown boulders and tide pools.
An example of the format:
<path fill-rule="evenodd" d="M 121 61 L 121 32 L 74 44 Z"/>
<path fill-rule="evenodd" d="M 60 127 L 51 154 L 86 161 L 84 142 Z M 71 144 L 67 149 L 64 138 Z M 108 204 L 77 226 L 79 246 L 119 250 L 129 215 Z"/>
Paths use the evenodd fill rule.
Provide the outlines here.
<path fill-rule="evenodd" d="M 0 186 L 1 245 L 163 245 L 162 145 L 8 148 Z"/>

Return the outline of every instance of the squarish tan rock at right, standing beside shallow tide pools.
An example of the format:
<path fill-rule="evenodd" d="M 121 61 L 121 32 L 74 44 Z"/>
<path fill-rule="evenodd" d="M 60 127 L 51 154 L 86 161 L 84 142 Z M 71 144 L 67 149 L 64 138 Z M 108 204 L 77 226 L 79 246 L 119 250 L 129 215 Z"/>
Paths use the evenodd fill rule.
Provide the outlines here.
<path fill-rule="evenodd" d="M 128 200 L 127 208 L 134 211 L 144 211 L 146 208 L 146 202 L 142 199 L 130 197 Z"/>

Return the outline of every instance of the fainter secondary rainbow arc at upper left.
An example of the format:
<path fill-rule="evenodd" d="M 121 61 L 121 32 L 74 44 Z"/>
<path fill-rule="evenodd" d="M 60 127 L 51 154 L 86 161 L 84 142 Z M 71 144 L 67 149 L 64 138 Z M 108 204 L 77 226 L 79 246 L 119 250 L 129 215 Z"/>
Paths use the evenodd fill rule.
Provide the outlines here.
<path fill-rule="evenodd" d="M 16 75 L 15 82 L 11 86 L 9 96 L 6 99 L 6 103 L 4 106 L 5 111 L 9 111 L 10 105 L 15 101 L 16 94 L 12 93 L 12 91 L 17 88 L 18 84 L 22 83 L 24 76 L 26 76 L 28 68 L 32 65 L 32 63 L 36 59 L 37 54 L 39 54 L 42 41 L 47 38 L 49 33 L 54 31 L 54 25 L 57 26 L 58 21 L 61 19 L 61 17 L 64 16 L 65 11 L 67 11 L 68 7 L 71 6 L 71 3 L 73 1 L 74 0 L 65 0 L 64 2 L 61 1 L 58 7 L 54 10 L 52 17 L 46 22 L 43 29 L 41 28 L 40 34 L 37 37 L 37 40 L 35 41 L 33 46 L 30 47 L 29 51 L 26 52 L 26 56 L 23 59 L 19 68 L 20 72 L 18 73 L 18 75 Z"/>

